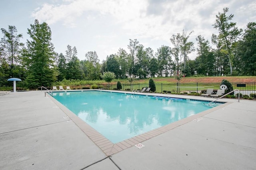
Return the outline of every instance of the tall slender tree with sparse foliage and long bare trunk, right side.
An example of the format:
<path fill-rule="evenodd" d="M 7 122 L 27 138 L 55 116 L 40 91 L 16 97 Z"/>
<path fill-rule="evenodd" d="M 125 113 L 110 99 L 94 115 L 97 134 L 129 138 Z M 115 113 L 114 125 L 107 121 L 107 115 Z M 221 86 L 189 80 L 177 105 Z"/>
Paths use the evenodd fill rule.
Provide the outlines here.
<path fill-rule="evenodd" d="M 232 49 L 231 45 L 234 43 L 238 36 L 241 35 L 242 29 L 238 29 L 236 27 L 236 23 L 231 22 L 234 17 L 233 14 L 226 16 L 228 12 L 228 8 L 223 8 L 223 13 L 218 13 L 216 15 L 216 21 L 214 23 L 214 28 L 219 31 L 219 38 L 226 46 L 226 50 L 228 51 L 228 60 L 230 64 L 230 74 L 232 75 Z"/>

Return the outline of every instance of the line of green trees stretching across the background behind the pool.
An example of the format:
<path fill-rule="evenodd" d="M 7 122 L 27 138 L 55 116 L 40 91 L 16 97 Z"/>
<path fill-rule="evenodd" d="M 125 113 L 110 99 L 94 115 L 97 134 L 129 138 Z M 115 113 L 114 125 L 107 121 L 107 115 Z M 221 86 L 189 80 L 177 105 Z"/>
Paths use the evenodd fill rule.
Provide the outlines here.
<path fill-rule="evenodd" d="M 168 76 L 255 76 L 256 75 L 256 22 L 247 24 L 243 31 L 232 22 L 233 14 L 227 16 L 228 8 L 216 15 L 210 41 L 201 35 L 196 37 L 197 48 L 189 40 L 193 33 L 173 34 L 170 47 L 162 45 L 154 51 L 130 39 L 128 50 L 120 48 L 116 54 L 100 63 L 96 51 L 88 51 L 84 60 L 77 57 L 76 47 L 67 46 L 65 53 L 56 53 L 51 43 L 52 32 L 46 22 L 30 24 L 26 44 L 20 43 L 22 34 L 15 26 L 2 28 L 0 41 L 0 85 L 17 77 L 28 88 L 51 86 L 53 82 L 67 80 L 97 80 L 102 73 L 113 72 L 116 78 L 149 78 Z M 194 60 L 190 53 L 197 51 Z"/>

